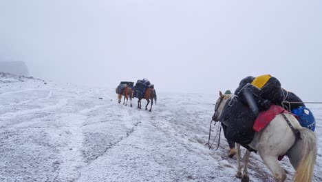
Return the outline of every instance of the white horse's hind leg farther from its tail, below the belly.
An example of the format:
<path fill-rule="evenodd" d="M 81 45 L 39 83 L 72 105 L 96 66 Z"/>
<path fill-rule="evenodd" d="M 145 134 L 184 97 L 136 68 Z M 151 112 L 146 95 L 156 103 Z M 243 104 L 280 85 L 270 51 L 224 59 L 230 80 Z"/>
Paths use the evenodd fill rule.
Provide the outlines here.
<path fill-rule="evenodd" d="M 268 169 L 270 169 L 270 172 L 272 172 L 272 176 L 274 176 L 276 182 L 283 182 L 286 180 L 286 172 L 283 170 L 283 168 L 281 168 L 281 165 L 279 165 L 277 156 L 264 156 L 260 151 L 259 155 L 261 156 L 261 159 L 263 159 Z"/>

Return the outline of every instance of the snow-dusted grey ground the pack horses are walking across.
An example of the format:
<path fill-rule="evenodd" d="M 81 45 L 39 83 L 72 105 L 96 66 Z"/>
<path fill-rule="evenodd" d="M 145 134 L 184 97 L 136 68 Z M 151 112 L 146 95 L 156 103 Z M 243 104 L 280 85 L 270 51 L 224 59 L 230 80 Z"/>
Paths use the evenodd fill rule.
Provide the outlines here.
<path fill-rule="evenodd" d="M 156 88 L 147 112 L 137 99 L 133 108 L 118 104 L 114 89 L 34 79 L 0 87 L 0 181 L 239 181 L 224 137 L 217 151 L 206 145 L 217 94 Z M 321 143 L 322 105 L 309 107 Z M 318 153 L 314 181 L 322 181 Z M 294 170 L 287 157 L 281 163 L 290 181 Z M 258 154 L 249 173 L 250 181 L 273 181 Z"/>

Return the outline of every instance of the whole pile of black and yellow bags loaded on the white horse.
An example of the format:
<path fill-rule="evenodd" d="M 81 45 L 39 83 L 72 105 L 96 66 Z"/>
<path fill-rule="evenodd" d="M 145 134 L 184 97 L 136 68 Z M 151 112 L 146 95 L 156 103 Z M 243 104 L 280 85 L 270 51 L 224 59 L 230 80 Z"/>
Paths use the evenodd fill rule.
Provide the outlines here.
<path fill-rule="evenodd" d="M 235 96 L 226 102 L 220 117 L 220 121 L 226 125 L 224 128 L 226 139 L 240 143 L 249 150 L 248 144 L 253 141 L 255 134 L 253 130 L 255 120 L 260 111 L 270 108 L 271 103 L 288 111 L 305 107 L 296 94 L 281 88 L 279 80 L 270 74 L 242 79 L 239 87 L 235 90 Z M 299 112 L 301 111 L 298 110 Z M 303 112 L 301 113 L 303 114 Z M 306 114 L 306 120 L 311 118 L 307 123 L 312 130 L 315 123 L 313 124 L 314 121 L 312 121 L 313 116 L 308 115 L 310 114 Z"/>

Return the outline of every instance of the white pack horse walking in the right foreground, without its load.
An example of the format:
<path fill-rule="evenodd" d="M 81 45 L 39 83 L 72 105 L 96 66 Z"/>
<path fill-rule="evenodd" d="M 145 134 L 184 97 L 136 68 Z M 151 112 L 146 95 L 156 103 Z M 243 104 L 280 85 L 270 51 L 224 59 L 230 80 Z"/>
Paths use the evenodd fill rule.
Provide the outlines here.
<path fill-rule="evenodd" d="M 231 94 L 222 94 L 219 92 L 215 106 L 214 120 L 219 121 L 222 110 L 226 101 L 232 97 Z M 316 161 L 316 136 L 314 132 L 307 128 L 301 127 L 299 121 L 292 114 L 284 113 L 287 119 L 295 130 L 299 130 L 301 139 L 296 139 L 290 125 L 281 114 L 277 115 L 270 123 L 261 130 L 255 132 L 254 139 L 250 143 L 250 147 L 257 150 L 259 156 L 264 161 L 265 165 L 272 172 L 275 181 L 285 181 L 286 172 L 279 165 L 278 156 L 286 154 L 290 159 L 294 170 L 296 170 L 293 181 L 309 182 L 312 181 L 314 163 Z M 242 177 L 242 181 L 249 181 L 247 172 L 247 163 L 250 152 L 246 150 L 244 156 L 244 172 L 241 176 L 240 165 L 240 145 L 237 144 L 237 177 Z"/>

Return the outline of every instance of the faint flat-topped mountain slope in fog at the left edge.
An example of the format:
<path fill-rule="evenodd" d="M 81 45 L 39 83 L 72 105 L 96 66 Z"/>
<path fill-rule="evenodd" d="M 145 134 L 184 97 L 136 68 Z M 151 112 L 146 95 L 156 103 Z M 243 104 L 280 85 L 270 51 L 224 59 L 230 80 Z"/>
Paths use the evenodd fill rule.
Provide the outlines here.
<path fill-rule="evenodd" d="M 29 76 L 27 65 L 23 61 L 0 61 L 0 72 L 9 72 L 19 76 Z"/>

